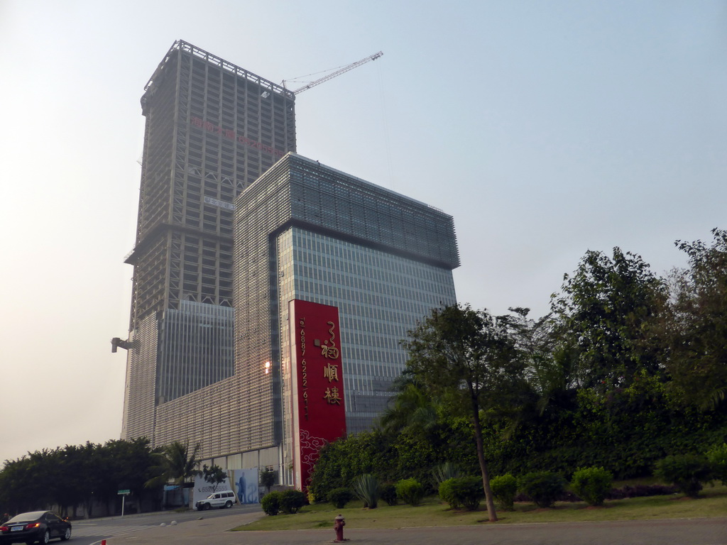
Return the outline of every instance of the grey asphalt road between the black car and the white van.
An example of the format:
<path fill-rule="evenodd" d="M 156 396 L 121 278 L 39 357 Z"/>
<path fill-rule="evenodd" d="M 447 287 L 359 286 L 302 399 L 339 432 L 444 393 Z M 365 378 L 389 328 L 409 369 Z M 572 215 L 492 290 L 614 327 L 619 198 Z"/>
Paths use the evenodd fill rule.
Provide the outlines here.
<path fill-rule="evenodd" d="M 190 520 L 215 519 L 217 517 L 229 517 L 236 514 L 248 514 L 260 512 L 260 504 L 236 505 L 231 509 L 212 509 L 210 511 L 198 512 L 188 511 L 177 513 L 174 511 L 162 511 L 154 513 L 127 514 L 124 517 L 108 517 L 103 519 L 74 520 L 73 524 L 73 545 L 92 545 L 100 543 L 102 539 L 113 536 L 123 536 L 150 528 L 159 528 L 162 524 L 172 525 L 172 522 L 184 524 Z"/>

